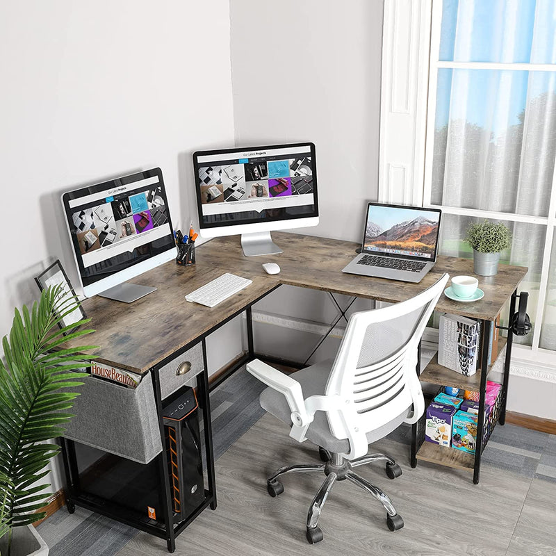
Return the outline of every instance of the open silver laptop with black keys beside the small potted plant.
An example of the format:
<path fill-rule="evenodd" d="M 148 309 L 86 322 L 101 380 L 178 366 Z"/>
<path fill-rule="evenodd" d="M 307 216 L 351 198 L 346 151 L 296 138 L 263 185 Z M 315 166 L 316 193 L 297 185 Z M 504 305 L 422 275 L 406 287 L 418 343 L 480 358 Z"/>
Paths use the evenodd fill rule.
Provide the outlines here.
<path fill-rule="evenodd" d="M 419 282 L 436 262 L 441 211 L 369 203 L 361 254 L 342 272 Z"/>

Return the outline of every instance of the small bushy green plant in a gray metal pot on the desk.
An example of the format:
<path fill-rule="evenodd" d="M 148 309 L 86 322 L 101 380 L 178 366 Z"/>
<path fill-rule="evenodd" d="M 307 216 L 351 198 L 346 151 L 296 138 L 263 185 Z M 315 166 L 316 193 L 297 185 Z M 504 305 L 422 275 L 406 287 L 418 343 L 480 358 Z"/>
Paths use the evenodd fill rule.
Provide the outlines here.
<path fill-rule="evenodd" d="M 512 232 L 502 222 L 475 222 L 467 229 L 466 243 L 473 248 L 473 272 L 493 276 L 498 272 L 500 252 L 512 245 Z"/>

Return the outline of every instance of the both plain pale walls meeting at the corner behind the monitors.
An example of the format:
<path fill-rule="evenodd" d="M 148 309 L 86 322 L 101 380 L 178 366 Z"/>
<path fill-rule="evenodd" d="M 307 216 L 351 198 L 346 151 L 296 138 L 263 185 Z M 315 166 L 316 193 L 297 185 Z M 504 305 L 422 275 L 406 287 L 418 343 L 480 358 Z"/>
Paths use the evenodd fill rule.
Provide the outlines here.
<path fill-rule="evenodd" d="M 382 1 L 1 3 L 0 336 L 54 258 L 78 283 L 63 191 L 161 166 L 172 220 L 188 222 L 195 149 L 313 140 L 321 219 L 304 232 L 358 240 L 377 197 L 381 40 Z M 320 294 L 289 297 L 331 316 Z M 238 320 L 211 338 L 211 370 L 237 353 Z M 270 344 L 302 357 L 304 334 Z"/>

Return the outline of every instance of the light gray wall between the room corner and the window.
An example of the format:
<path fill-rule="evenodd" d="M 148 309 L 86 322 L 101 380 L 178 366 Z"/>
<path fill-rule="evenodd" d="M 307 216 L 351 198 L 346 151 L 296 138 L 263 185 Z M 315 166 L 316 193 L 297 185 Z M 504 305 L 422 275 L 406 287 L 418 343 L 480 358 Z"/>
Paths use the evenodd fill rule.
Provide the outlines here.
<path fill-rule="evenodd" d="M 360 241 L 365 203 L 377 199 L 383 8 L 382 0 L 230 2 L 236 144 L 316 144 L 320 223 L 302 234 Z M 325 293 L 285 286 L 256 310 L 297 321 L 336 315 Z M 303 361 L 318 335 L 303 322 L 297 330 L 288 318 L 272 322 L 255 323 L 256 348 Z M 316 359 L 337 347 L 331 338 Z"/>

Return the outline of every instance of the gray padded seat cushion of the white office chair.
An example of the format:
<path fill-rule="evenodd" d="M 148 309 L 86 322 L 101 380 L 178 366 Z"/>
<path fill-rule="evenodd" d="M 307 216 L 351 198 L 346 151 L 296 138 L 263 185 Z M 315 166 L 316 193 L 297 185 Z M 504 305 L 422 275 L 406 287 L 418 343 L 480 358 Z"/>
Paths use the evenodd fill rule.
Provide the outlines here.
<path fill-rule="evenodd" d="M 330 375 L 330 369 L 332 368 L 332 359 L 327 361 L 322 361 L 312 365 L 310 367 L 298 370 L 297 373 L 290 375 L 292 378 L 297 380 L 301 384 L 301 389 L 303 391 L 303 398 L 309 398 L 311 395 L 324 395 L 328 377 Z M 261 397 L 259 398 L 261 402 L 261 407 L 268 411 L 268 413 L 279 418 L 287 425 L 291 426 L 291 409 L 288 406 L 286 397 L 268 387 L 263 390 Z M 379 439 L 384 438 L 386 434 L 390 434 L 393 430 L 398 428 L 407 417 L 411 407 L 407 408 L 403 414 L 391 420 L 389 423 L 382 425 L 375 430 L 367 433 L 368 443 L 373 443 Z M 346 453 L 350 451 L 350 442 L 347 439 L 339 440 L 330 432 L 330 427 L 328 424 L 327 416 L 325 411 L 317 411 L 313 423 L 309 425 L 309 429 L 306 432 L 306 438 L 316 445 L 322 446 L 325 450 L 333 453 Z"/>

